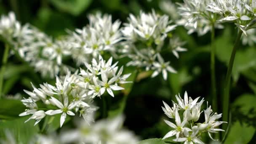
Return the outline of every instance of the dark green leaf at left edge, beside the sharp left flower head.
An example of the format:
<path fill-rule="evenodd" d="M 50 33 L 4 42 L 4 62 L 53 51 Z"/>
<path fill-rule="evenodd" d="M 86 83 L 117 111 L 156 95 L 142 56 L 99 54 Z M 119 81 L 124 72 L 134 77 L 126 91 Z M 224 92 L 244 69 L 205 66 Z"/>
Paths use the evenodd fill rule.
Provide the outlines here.
<path fill-rule="evenodd" d="M 20 100 L 1 99 L 0 100 L 0 118 L 19 117 L 21 112 L 24 112 L 26 107 Z"/>

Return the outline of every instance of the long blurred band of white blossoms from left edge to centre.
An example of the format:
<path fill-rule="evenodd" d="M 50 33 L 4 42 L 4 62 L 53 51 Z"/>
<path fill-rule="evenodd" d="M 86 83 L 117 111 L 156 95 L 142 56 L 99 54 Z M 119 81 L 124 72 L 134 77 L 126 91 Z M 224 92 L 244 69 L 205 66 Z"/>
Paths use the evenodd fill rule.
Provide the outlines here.
<path fill-rule="evenodd" d="M 141 11 L 138 18 L 130 14 L 129 23 L 122 28 L 121 21 L 112 22 L 111 15 L 97 13 L 89 15 L 88 19 L 89 24 L 82 29 L 68 31 L 67 35 L 54 39 L 30 24 L 22 26 L 11 12 L 0 20 L 0 35 L 43 77 L 51 78 L 74 69 L 65 64 L 69 58 L 81 66 L 84 61 L 110 53 L 114 58 L 131 58 L 128 66 L 154 70 L 152 77 L 162 72 L 166 80 L 167 71 L 176 71 L 169 62 L 163 61 L 160 53 L 167 50 L 179 58 L 178 52 L 187 51 L 181 47 L 184 44 L 171 34 L 176 25 L 171 24 L 167 15 L 160 16 L 154 10 L 148 14 Z M 170 43 L 165 45 L 167 37 Z M 122 49 L 117 51 L 118 47 Z M 122 56 L 118 56 L 120 52 Z"/>

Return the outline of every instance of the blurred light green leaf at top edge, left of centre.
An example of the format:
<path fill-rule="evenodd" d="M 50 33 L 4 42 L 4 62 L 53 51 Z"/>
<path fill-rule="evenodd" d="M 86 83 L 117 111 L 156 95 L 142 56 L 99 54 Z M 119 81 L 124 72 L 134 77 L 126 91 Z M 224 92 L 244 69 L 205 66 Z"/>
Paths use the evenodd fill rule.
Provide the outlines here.
<path fill-rule="evenodd" d="M 58 8 L 59 11 L 77 16 L 88 8 L 92 0 L 50 0 L 50 2 Z"/>

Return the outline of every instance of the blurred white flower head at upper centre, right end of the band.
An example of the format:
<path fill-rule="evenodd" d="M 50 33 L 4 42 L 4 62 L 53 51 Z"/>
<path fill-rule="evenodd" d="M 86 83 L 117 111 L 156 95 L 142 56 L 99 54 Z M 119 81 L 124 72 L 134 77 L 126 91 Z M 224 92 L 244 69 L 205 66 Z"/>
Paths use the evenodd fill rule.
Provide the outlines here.
<path fill-rule="evenodd" d="M 182 45 L 176 43 L 176 47 L 168 45 L 163 49 L 165 39 L 172 37 L 171 31 L 176 28 L 175 24 L 171 24 L 167 15 L 160 16 L 152 10 L 152 13 L 140 12 L 139 17 L 130 14 L 128 18 L 129 23 L 125 23 L 122 32 L 125 42 L 122 43 L 123 49 L 121 53 L 123 56 L 128 56 L 131 61 L 127 66 L 136 66 L 148 70 L 154 70 L 152 77 L 157 76 L 160 72 L 163 77 L 167 79 L 167 71 L 176 73 L 176 71 L 169 65 L 169 61 L 165 62 L 160 55 L 164 50 L 175 53 L 178 57 L 179 51 L 186 51 L 181 48 Z"/>

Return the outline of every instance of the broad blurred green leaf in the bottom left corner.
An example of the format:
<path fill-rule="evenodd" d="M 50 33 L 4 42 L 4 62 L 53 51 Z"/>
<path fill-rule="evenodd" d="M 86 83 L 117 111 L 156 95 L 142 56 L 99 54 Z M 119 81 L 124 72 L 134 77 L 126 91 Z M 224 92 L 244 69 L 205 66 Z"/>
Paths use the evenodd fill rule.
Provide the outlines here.
<path fill-rule="evenodd" d="M 6 131 L 9 131 L 17 144 L 29 144 L 29 141 L 34 138 L 39 128 L 38 125 L 34 126 L 35 120 L 29 120 L 27 123 L 24 123 L 28 118 L 29 116 L 10 121 L 1 120 L 0 139 L 5 139 Z"/>

